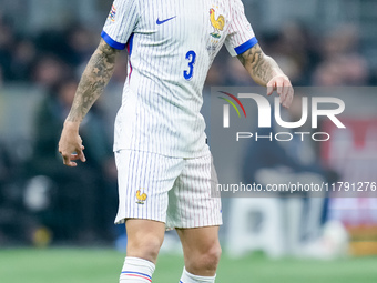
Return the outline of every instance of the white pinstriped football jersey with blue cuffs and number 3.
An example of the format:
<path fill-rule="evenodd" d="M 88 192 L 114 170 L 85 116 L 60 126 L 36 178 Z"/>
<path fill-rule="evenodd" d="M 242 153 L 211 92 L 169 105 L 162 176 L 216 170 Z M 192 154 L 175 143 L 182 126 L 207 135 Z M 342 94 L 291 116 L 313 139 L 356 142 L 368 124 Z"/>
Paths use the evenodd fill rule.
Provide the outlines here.
<path fill-rule="evenodd" d="M 224 43 L 232 55 L 257 43 L 241 0 L 115 0 L 102 38 L 129 51 L 114 150 L 206 154 L 208 69 Z"/>

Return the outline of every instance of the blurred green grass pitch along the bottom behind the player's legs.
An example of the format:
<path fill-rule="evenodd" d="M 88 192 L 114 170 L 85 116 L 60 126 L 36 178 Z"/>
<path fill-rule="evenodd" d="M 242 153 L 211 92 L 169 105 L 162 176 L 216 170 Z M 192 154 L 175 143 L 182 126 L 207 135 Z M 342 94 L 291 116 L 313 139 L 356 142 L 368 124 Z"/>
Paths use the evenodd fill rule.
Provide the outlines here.
<path fill-rule="evenodd" d="M 118 283 L 123 254 L 112 250 L 0 250 L 2 283 Z M 153 283 L 177 283 L 183 261 L 161 255 Z M 216 283 L 376 283 L 377 257 L 338 261 L 268 260 L 223 255 Z"/>

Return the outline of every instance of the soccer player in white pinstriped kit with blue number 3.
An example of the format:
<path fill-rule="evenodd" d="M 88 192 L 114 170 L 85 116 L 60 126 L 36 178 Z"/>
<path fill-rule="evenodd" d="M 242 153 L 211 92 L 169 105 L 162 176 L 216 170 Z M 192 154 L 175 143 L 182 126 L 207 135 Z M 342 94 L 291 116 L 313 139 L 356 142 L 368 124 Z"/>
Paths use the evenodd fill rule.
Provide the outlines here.
<path fill-rule="evenodd" d="M 221 201 L 211 198 L 212 156 L 200 113 L 202 89 L 225 43 L 251 77 L 289 107 L 293 90 L 265 55 L 241 0 L 115 0 L 64 122 L 63 163 L 85 161 L 79 125 L 109 82 L 120 50 L 129 52 L 114 152 L 119 211 L 128 249 L 120 282 L 152 282 L 165 229 L 176 229 L 184 264 L 180 282 L 214 282 L 221 247 Z"/>

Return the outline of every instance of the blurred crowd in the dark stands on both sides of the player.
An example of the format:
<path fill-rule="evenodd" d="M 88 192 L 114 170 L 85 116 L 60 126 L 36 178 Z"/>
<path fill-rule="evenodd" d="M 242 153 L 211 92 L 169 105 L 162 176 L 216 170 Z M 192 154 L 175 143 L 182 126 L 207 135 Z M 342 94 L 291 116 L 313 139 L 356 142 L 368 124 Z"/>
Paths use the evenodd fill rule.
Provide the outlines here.
<path fill-rule="evenodd" d="M 278 61 L 295 85 L 376 84 L 376 71 L 359 52 L 358 29 L 335 27 L 324 34 L 298 21 L 286 22 L 278 31 L 256 31 L 263 50 Z M 80 78 L 99 42 L 99 31 L 79 23 L 63 30 L 22 34 L 0 18 L 0 82 L 29 82 L 51 88 L 68 75 Z M 223 49 L 208 74 L 207 84 L 249 84 L 237 60 Z M 125 62 L 113 81 L 122 83 Z"/>

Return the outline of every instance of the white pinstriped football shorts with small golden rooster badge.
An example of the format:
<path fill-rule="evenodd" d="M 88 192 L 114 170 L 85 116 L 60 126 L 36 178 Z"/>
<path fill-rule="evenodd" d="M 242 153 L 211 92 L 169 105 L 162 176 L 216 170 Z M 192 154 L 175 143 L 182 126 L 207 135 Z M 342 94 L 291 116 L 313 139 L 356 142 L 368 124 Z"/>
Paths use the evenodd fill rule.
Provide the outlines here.
<path fill-rule="evenodd" d="M 171 158 L 152 152 L 115 152 L 119 209 L 115 223 L 145 219 L 174 228 L 222 224 L 217 175 L 212 155 L 194 159 Z"/>

